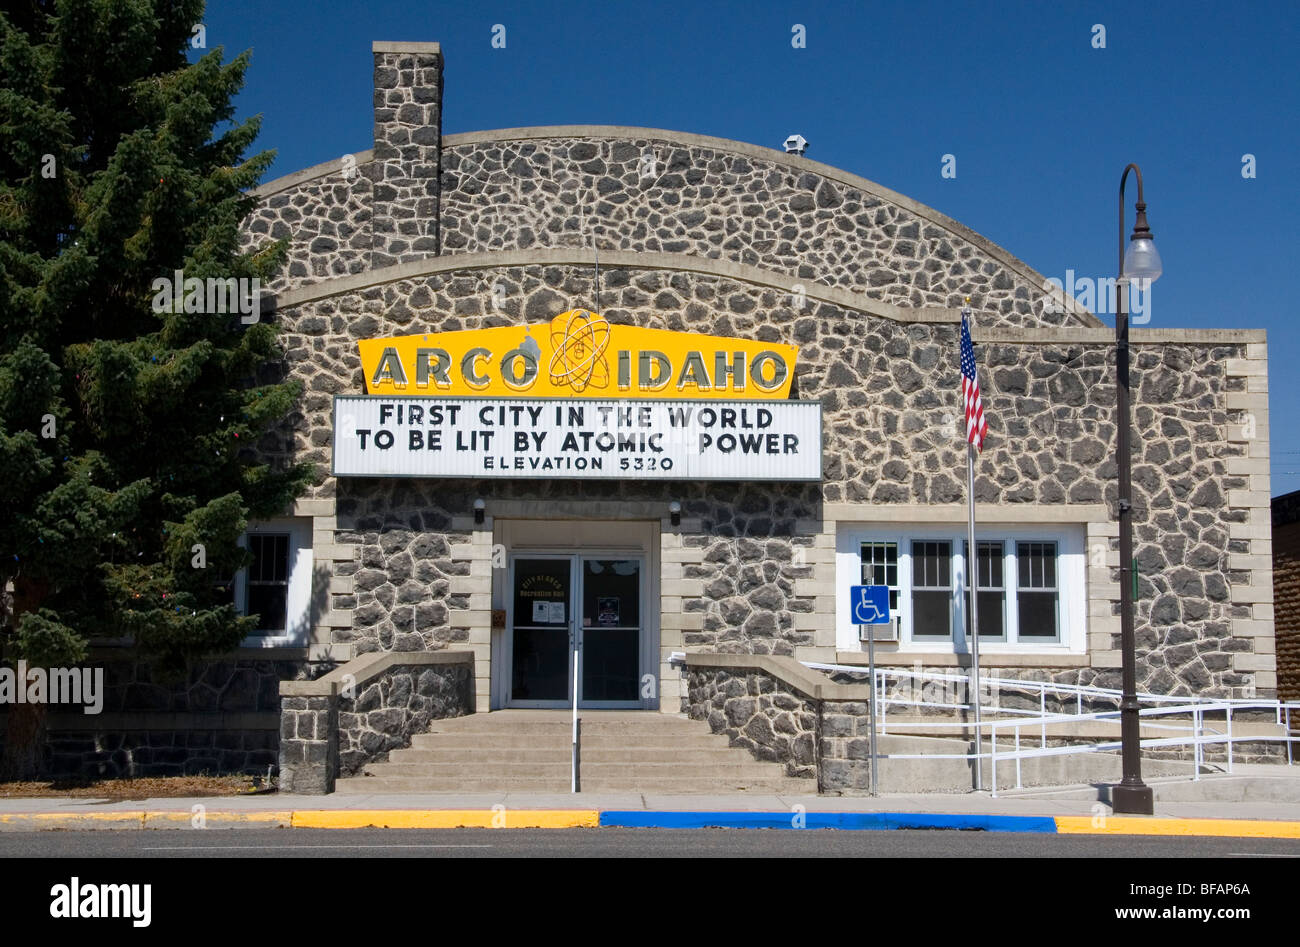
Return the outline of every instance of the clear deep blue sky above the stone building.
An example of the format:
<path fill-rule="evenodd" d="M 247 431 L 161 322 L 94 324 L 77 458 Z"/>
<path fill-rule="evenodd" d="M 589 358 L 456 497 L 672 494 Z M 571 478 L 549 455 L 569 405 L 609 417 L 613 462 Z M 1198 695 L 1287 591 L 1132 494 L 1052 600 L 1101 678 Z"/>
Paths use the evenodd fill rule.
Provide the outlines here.
<path fill-rule="evenodd" d="M 1300 489 L 1296 0 L 216 0 L 204 23 L 209 48 L 254 52 L 237 109 L 264 117 L 269 177 L 370 147 L 376 39 L 442 43 L 445 133 L 640 125 L 779 148 L 797 131 L 809 157 L 1062 280 L 1114 276 L 1136 161 L 1165 264 L 1147 328 L 1268 329 L 1273 494 Z"/>

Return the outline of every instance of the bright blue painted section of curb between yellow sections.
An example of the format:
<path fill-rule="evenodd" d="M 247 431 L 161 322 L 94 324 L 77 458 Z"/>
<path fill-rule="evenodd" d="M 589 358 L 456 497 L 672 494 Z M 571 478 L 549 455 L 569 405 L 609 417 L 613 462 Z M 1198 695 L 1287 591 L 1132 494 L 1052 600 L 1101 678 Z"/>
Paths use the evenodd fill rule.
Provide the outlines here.
<path fill-rule="evenodd" d="M 797 825 L 802 821 L 802 825 Z M 954 816 L 907 812 L 645 812 L 606 810 L 602 827 L 620 829 L 956 829 L 988 833 L 1056 834 L 1056 820 L 1041 816 Z"/>

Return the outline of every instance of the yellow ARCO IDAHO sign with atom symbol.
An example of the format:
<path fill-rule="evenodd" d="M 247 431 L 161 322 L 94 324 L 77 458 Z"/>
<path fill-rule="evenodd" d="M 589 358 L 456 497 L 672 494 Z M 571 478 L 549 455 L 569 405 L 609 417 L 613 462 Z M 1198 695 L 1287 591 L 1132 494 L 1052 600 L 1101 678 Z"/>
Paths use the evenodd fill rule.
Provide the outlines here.
<path fill-rule="evenodd" d="M 790 397 L 798 349 L 611 325 L 586 310 L 550 323 L 358 343 L 368 394 L 495 398 Z"/>

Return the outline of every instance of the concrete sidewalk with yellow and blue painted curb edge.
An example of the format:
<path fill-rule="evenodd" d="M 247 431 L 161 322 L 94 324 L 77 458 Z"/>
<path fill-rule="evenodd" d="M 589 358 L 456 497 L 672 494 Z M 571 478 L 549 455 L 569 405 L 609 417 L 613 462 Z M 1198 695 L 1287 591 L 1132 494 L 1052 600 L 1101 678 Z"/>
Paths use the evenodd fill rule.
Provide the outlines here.
<path fill-rule="evenodd" d="M 1216 792 L 1213 787 L 1206 788 L 1209 795 Z M 1158 801 L 1157 795 L 1154 817 L 1118 817 L 1097 801 L 1095 787 L 1001 794 L 996 799 L 988 792 L 876 797 L 636 792 L 266 794 L 117 803 L 96 799 L 0 799 L 0 831 L 272 826 L 924 827 L 1300 839 L 1300 804 L 1214 799 Z"/>

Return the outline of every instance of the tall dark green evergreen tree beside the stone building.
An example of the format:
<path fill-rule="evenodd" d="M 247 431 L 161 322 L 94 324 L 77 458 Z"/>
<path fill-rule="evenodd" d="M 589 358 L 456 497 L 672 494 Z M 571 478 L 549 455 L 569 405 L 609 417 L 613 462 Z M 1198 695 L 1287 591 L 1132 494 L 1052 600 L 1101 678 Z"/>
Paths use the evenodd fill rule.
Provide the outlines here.
<path fill-rule="evenodd" d="M 255 444 L 299 390 L 274 328 L 176 306 L 155 281 L 269 278 L 285 245 L 239 251 L 273 152 L 231 96 L 248 53 L 190 62 L 202 0 L 29 1 L 0 13 L 0 643 L 82 662 L 129 636 L 164 674 L 257 624 L 231 602 L 247 518 L 313 476 Z M 156 300 L 156 297 L 159 298 Z M 161 306 L 156 306 L 161 302 Z M 164 308 L 165 311 L 156 311 Z M 191 311 L 186 311 L 186 308 Z M 274 441 L 274 436 L 270 436 Z M 38 762 L 10 708 L 0 770 Z"/>

